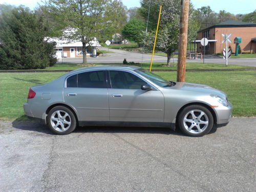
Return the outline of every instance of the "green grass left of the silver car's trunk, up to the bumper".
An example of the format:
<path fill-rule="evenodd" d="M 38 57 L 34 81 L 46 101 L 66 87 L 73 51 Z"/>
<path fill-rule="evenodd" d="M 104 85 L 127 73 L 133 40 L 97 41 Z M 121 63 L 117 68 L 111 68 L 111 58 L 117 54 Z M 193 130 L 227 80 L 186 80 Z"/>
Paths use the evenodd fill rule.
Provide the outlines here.
<path fill-rule="evenodd" d="M 27 100 L 29 88 L 62 74 L 65 73 L 1 73 L 0 118 L 13 120 L 23 116 L 23 103 Z"/>

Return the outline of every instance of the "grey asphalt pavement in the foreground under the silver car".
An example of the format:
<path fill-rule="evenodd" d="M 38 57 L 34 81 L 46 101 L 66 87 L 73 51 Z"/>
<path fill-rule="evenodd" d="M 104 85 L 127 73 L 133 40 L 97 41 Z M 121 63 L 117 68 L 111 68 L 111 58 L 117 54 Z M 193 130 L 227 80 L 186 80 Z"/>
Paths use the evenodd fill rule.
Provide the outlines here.
<path fill-rule="evenodd" d="M 191 138 L 159 128 L 0 122 L 0 191 L 255 191 L 256 118 Z"/>

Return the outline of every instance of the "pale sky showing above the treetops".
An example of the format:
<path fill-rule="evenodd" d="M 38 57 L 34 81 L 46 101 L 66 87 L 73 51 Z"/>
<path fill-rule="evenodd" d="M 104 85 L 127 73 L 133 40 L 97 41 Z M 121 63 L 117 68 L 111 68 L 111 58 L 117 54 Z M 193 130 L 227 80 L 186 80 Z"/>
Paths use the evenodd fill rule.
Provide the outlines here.
<path fill-rule="evenodd" d="M 139 0 L 122 0 L 122 2 L 127 8 L 140 7 Z M 250 13 L 256 9 L 255 0 L 190 0 L 190 2 L 193 3 L 196 9 L 201 8 L 202 6 L 210 6 L 210 8 L 215 12 L 225 10 L 233 14 Z M 3 3 L 15 6 L 23 4 L 30 9 L 34 9 L 38 3 L 41 3 L 41 0 L 0 0 L 0 4 Z"/>

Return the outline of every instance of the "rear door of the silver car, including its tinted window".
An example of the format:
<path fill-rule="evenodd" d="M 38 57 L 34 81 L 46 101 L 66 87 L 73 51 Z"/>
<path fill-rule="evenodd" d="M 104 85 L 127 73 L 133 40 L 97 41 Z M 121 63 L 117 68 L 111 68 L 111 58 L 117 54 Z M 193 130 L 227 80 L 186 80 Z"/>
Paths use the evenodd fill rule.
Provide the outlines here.
<path fill-rule="evenodd" d="M 74 106 L 81 121 L 109 121 L 106 71 L 89 71 L 67 78 L 65 102 Z"/>

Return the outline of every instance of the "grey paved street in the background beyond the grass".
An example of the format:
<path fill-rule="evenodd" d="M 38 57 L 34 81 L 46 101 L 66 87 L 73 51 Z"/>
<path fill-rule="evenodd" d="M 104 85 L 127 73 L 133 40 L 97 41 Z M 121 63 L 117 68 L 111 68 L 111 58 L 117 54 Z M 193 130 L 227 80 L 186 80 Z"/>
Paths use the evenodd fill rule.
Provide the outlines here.
<path fill-rule="evenodd" d="M 102 50 L 108 50 L 107 48 L 100 48 Z M 123 59 L 126 58 L 128 62 L 150 62 L 151 55 L 149 54 L 141 54 L 141 53 L 132 53 L 123 50 L 116 50 L 116 49 L 109 49 L 115 53 L 108 53 L 106 56 L 103 57 L 89 57 L 88 62 L 90 63 L 122 63 Z M 154 62 L 166 62 L 167 57 L 163 56 L 154 56 Z M 172 62 L 177 62 L 177 58 L 172 58 Z M 60 61 L 61 62 L 61 61 Z M 74 62 L 74 63 L 81 63 L 82 58 L 63 58 L 63 62 Z M 201 59 L 187 59 L 187 62 L 202 62 Z M 209 58 L 205 59 L 205 63 L 220 63 L 225 65 L 226 61 L 222 58 Z M 229 59 L 228 63 L 231 65 L 241 65 L 241 66 L 252 66 L 256 67 L 256 58 L 245 58 L 245 59 Z"/>

